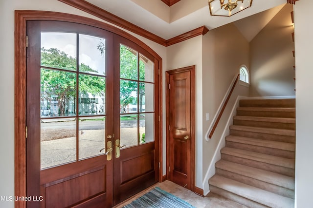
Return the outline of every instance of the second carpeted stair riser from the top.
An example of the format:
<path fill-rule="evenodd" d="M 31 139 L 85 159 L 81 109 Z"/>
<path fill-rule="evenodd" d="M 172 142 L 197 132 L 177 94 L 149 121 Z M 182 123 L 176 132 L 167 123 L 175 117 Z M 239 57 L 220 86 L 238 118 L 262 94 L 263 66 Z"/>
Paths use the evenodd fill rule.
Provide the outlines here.
<path fill-rule="evenodd" d="M 237 115 L 254 116 L 254 117 L 295 118 L 295 112 L 271 112 L 271 111 L 242 111 L 242 110 L 237 110 Z"/>

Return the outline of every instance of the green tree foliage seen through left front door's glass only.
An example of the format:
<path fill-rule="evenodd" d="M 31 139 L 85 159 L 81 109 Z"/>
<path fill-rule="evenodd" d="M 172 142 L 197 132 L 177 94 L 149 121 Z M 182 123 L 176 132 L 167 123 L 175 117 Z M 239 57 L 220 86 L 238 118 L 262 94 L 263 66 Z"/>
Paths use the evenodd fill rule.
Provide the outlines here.
<path fill-rule="evenodd" d="M 68 56 L 65 52 L 56 48 L 41 49 L 41 64 L 43 66 L 67 69 L 68 72 L 42 69 L 41 92 L 46 99 L 56 96 L 58 100 L 59 115 L 66 115 L 66 106 L 70 99 L 76 98 L 76 58 Z M 81 63 L 81 71 L 95 72 L 89 66 Z M 74 72 L 75 71 L 75 72 Z M 100 95 L 105 92 L 105 80 L 99 76 L 80 75 L 79 93 L 84 95 Z"/>

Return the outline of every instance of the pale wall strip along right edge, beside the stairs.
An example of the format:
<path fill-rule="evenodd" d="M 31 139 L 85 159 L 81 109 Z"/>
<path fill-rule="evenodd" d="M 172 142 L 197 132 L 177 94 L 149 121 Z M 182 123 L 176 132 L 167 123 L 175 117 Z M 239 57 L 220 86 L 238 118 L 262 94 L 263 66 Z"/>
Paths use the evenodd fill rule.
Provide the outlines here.
<path fill-rule="evenodd" d="M 296 170 L 295 208 L 313 205 L 313 37 L 312 0 L 299 0 L 294 6 L 296 65 Z"/>

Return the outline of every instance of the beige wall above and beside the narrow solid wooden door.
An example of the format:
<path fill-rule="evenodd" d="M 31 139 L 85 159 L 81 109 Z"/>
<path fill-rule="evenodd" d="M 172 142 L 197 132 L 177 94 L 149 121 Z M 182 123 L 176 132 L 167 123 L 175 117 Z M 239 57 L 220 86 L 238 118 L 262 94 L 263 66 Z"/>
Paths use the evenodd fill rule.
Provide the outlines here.
<path fill-rule="evenodd" d="M 167 68 L 178 69 L 196 65 L 196 187 L 202 188 L 202 37 L 188 39 L 167 47 Z M 164 81 L 165 82 L 165 81 Z M 164 88 L 165 90 L 165 88 Z M 163 109 L 165 109 L 165 94 Z M 165 118 L 165 117 L 164 117 Z M 163 119 L 163 122 L 165 120 Z M 164 126 L 165 127 L 165 126 Z M 165 129 L 165 128 L 164 128 Z M 163 142 L 166 136 L 163 136 Z M 166 146 L 163 145 L 163 148 Z"/>

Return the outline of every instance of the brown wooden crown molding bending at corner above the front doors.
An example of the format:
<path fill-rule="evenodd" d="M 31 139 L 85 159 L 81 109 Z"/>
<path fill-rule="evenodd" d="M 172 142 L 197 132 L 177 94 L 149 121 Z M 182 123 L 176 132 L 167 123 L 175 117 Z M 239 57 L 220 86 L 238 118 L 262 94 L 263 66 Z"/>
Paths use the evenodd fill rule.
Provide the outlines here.
<path fill-rule="evenodd" d="M 128 31 L 131 31 L 131 32 L 133 32 L 139 36 L 150 39 L 150 40 L 152 40 L 152 41 L 154 41 L 160 45 L 163 45 L 163 46 L 170 46 L 170 45 L 179 43 L 181 41 L 187 40 L 189 38 L 194 38 L 194 37 L 199 36 L 199 35 L 205 35 L 209 31 L 209 29 L 207 27 L 201 26 L 199 28 L 196 28 L 194 30 L 191 30 L 189 32 L 186 32 L 184 34 L 181 34 L 179 36 L 176 36 L 174 38 L 170 38 L 170 39 L 166 40 L 164 38 L 161 38 L 161 37 L 149 32 L 149 31 L 141 28 L 141 27 L 138 27 L 137 25 L 135 25 L 135 24 L 133 24 L 133 23 L 131 23 L 125 19 L 117 17 L 116 15 L 113 15 L 112 13 L 110 13 L 110 12 L 100 8 L 100 7 L 93 5 L 86 0 L 59 0 L 59 1 L 66 3 L 70 6 L 73 6 L 73 7 L 77 8 L 79 10 L 82 10 L 84 12 L 87 12 L 90 15 L 93 15 L 97 18 L 108 21 L 108 22 L 110 22 L 116 26 L 124 28 Z M 179 0 L 164 0 L 164 1 L 171 1 L 171 2 L 176 3 Z"/>

